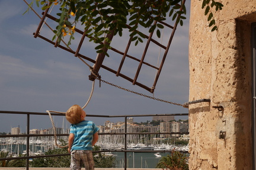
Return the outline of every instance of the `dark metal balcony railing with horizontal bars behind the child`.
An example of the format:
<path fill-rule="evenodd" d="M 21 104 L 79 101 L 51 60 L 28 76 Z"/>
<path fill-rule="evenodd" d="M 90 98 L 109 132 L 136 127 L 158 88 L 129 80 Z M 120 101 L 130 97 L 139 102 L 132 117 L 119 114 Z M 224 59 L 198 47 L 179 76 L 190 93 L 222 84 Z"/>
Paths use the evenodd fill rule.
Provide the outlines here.
<path fill-rule="evenodd" d="M 30 116 L 31 115 L 42 115 L 49 116 L 47 113 L 38 113 L 38 112 L 23 112 L 23 111 L 0 111 L 2 114 L 25 114 L 27 115 L 27 131 L 26 134 L 6 134 L 0 135 L 3 137 L 26 137 L 26 156 L 22 157 L 11 157 L 11 158 L 0 158 L 0 161 L 12 160 L 12 159 L 26 159 L 26 169 L 29 169 L 29 159 L 33 158 L 47 158 L 47 157 L 56 157 L 56 156 L 68 156 L 69 153 L 57 154 L 57 155 L 39 155 L 39 156 L 30 156 L 30 137 L 40 137 L 40 136 L 54 136 L 54 134 L 30 134 Z M 65 114 L 52 113 L 52 116 L 65 116 Z M 124 118 L 124 133 L 98 133 L 99 135 L 124 135 L 124 148 L 123 149 L 109 149 L 109 150 L 99 150 L 94 151 L 94 153 L 100 152 L 124 152 L 124 169 L 127 168 L 127 152 L 171 152 L 171 150 L 128 150 L 127 149 L 127 135 L 130 134 L 189 134 L 189 132 L 157 132 L 157 133 L 127 133 L 127 118 L 128 117 L 149 117 L 149 116 L 188 116 L 188 113 L 177 113 L 177 114 L 132 114 L 132 115 L 117 115 L 117 116 L 106 116 L 106 115 L 92 115 L 87 114 L 87 117 L 108 117 L 108 118 Z M 56 134 L 57 136 L 68 136 L 69 134 Z"/>

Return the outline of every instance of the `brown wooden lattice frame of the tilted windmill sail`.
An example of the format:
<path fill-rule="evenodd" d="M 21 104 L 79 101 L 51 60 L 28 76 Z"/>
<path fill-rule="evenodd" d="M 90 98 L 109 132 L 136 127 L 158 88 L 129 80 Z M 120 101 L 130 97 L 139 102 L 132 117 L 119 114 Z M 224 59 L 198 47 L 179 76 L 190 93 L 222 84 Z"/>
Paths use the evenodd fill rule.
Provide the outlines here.
<path fill-rule="evenodd" d="M 182 3 L 183 3 L 183 5 L 184 5 L 185 0 L 183 0 Z M 182 9 L 183 5 L 180 6 L 180 11 L 183 10 L 183 9 Z M 48 11 L 49 11 L 49 8 L 47 8 L 46 11 L 44 11 L 44 12 L 42 13 L 42 14 L 43 14 L 43 17 L 41 18 L 41 21 L 40 21 L 39 26 L 38 26 L 38 28 L 37 28 L 37 30 L 36 30 L 36 33 L 34 33 L 34 37 L 35 37 L 35 38 L 36 38 L 36 37 L 40 37 L 41 39 L 46 40 L 47 42 L 53 44 L 55 47 L 60 47 L 61 49 L 66 50 L 67 52 L 73 53 L 76 57 L 79 56 L 79 57 L 82 57 L 82 58 L 85 59 L 85 60 L 88 60 L 89 62 L 94 63 L 94 66 L 93 66 L 93 69 L 92 69 L 92 70 L 94 70 L 95 73 L 98 73 L 98 71 L 100 70 L 100 68 L 103 68 L 103 69 L 105 69 L 105 70 L 108 70 L 108 71 L 110 71 L 110 72 L 116 74 L 116 76 L 120 76 L 120 77 L 122 77 L 122 78 L 124 78 L 124 79 L 127 79 L 128 81 L 132 82 L 133 85 L 138 85 L 138 86 L 140 86 L 140 87 L 146 89 L 147 91 L 149 91 L 149 92 L 151 92 L 151 93 L 154 92 L 156 83 L 158 82 L 159 75 L 160 75 L 160 73 L 161 73 L 162 67 L 163 67 L 164 62 L 165 62 L 165 59 L 166 59 L 166 57 L 167 57 L 167 53 L 168 53 L 168 51 L 169 51 L 169 47 L 170 47 L 171 42 L 172 42 L 172 39 L 173 39 L 173 37 L 174 37 L 175 30 L 177 29 L 177 25 L 178 25 L 178 22 L 177 22 L 177 21 L 175 22 L 175 24 L 174 24 L 173 26 L 171 26 L 171 25 L 169 25 L 169 24 L 167 24 L 167 23 L 165 23 L 165 22 L 163 22 L 163 21 L 159 22 L 159 23 L 165 25 L 165 27 L 171 28 L 171 30 L 172 30 L 171 36 L 169 37 L 169 41 L 168 41 L 167 46 L 164 46 L 164 45 L 162 45 L 161 43 L 159 43 L 158 41 L 152 39 L 152 36 L 153 36 L 153 33 L 154 33 L 154 32 L 150 33 L 149 36 L 147 36 L 147 35 L 144 34 L 145 37 L 146 37 L 146 39 L 147 39 L 147 43 L 146 43 L 146 46 L 145 46 L 145 49 L 144 49 L 144 52 L 143 52 L 143 54 L 142 54 L 141 59 L 137 59 L 136 57 L 133 57 L 133 56 L 130 56 L 129 54 L 127 54 L 127 53 L 129 52 L 129 47 L 130 47 L 130 44 L 131 44 L 131 42 L 132 42 L 132 38 L 133 38 L 133 37 L 130 37 L 130 39 L 129 39 L 128 43 L 127 43 L 126 49 L 125 49 L 124 52 L 120 52 L 119 50 L 115 49 L 114 47 L 111 47 L 110 50 L 112 50 L 113 52 L 116 52 L 116 53 L 118 53 L 118 54 L 120 54 L 120 55 L 123 56 L 122 59 L 121 59 L 120 65 L 119 65 L 119 69 L 114 70 L 114 69 L 108 68 L 107 66 L 104 66 L 104 65 L 103 65 L 103 60 L 104 60 L 104 57 L 105 57 L 105 54 L 104 54 L 104 53 L 100 53 L 100 54 L 98 55 L 97 59 L 95 59 L 95 60 L 94 60 L 94 59 L 91 59 L 90 57 L 84 56 L 84 55 L 81 54 L 81 53 L 79 53 L 79 51 L 80 51 L 80 49 L 81 49 L 81 46 L 82 46 L 82 43 L 83 43 L 85 37 L 88 37 L 88 35 L 85 34 L 85 31 L 81 31 L 81 30 L 79 30 L 78 28 L 75 28 L 75 31 L 76 31 L 77 33 L 79 33 L 79 34 L 82 35 L 81 40 L 80 40 L 80 43 L 79 43 L 79 45 L 78 45 L 76 51 L 73 51 L 73 50 L 69 49 L 68 47 L 64 47 L 64 46 L 62 46 L 62 45 L 60 45 L 60 44 L 57 44 L 57 41 L 54 42 L 54 41 L 52 41 L 52 40 L 47 39 L 46 37 L 41 36 L 41 35 L 39 34 L 39 32 L 40 32 L 41 26 L 42 26 L 43 23 L 44 23 L 45 18 L 47 17 L 47 18 L 50 18 L 51 20 L 54 20 L 54 21 L 57 20 L 57 18 L 55 18 L 55 17 L 53 17 L 52 15 L 48 14 Z M 178 15 L 178 17 L 177 17 L 176 20 L 179 20 L 179 18 L 180 18 L 180 15 Z M 155 21 L 154 24 L 157 24 L 157 21 Z M 127 25 L 127 28 L 130 28 L 130 26 Z M 111 40 L 111 39 L 113 38 L 113 33 L 107 34 L 107 37 L 108 37 L 108 39 Z M 89 38 L 90 38 L 90 37 L 89 37 Z M 104 42 L 104 43 L 106 43 L 106 42 Z M 161 60 L 161 63 L 160 63 L 160 65 L 159 65 L 159 67 L 153 66 L 153 65 L 151 65 L 151 64 L 149 64 L 149 63 L 147 63 L 147 62 L 144 61 L 144 59 L 145 59 L 145 57 L 146 57 L 146 52 L 147 52 L 147 50 L 148 50 L 148 47 L 149 47 L 149 44 L 150 44 L 150 43 L 154 43 L 154 44 L 156 44 L 157 46 L 159 46 L 160 48 L 162 48 L 162 49 L 165 50 L 165 51 L 164 51 L 164 55 L 162 56 L 162 60 Z M 107 52 L 108 49 L 103 49 L 103 50 L 104 50 L 105 52 Z M 137 71 L 136 71 L 136 74 L 135 74 L 134 78 L 130 78 L 129 76 L 126 76 L 126 75 L 124 75 L 123 73 L 121 73 L 121 69 L 122 69 L 122 66 L 123 66 L 123 64 L 124 64 L 124 60 L 126 59 L 126 57 L 129 57 L 130 59 L 133 59 L 133 60 L 139 62 L 139 66 L 137 67 Z M 137 82 L 137 78 L 138 78 L 138 76 L 139 76 L 140 69 L 142 68 L 142 65 L 147 65 L 147 66 L 150 66 L 151 68 L 157 70 L 156 75 L 155 75 L 155 80 L 153 81 L 152 86 L 147 86 L 147 85 L 141 84 L 140 82 Z M 91 81 L 94 81 L 95 76 L 91 74 L 91 75 L 89 76 L 89 79 L 90 79 Z"/>

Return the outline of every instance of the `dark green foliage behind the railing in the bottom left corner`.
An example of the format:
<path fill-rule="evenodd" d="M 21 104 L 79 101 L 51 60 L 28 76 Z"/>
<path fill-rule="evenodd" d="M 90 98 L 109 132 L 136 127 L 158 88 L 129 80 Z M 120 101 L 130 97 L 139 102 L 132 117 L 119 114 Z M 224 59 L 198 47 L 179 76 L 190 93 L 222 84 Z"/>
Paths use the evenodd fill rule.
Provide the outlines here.
<path fill-rule="evenodd" d="M 11 158 L 13 153 L 9 152 L 0 152 L 0 158 Z M 21 156 L 21 155 L 20 155 Z M 13 160 L 3 160 L 0 161 L 0 167 L 25 167 L 25 159 L 13 159 Z"/>

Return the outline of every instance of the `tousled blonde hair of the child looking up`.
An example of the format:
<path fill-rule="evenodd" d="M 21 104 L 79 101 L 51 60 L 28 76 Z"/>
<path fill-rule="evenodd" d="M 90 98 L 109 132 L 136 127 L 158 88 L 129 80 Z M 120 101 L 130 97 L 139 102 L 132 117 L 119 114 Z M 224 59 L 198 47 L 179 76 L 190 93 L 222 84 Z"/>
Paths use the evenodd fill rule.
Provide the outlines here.
<path fill-rule="evenodd" d="M 71 124 L 79 123 L 81 121 L 82 111 L 83 110 L 79 105 L 72 105 L 71 108 L 66 111 L 66 120 L 68 120 Z"/>

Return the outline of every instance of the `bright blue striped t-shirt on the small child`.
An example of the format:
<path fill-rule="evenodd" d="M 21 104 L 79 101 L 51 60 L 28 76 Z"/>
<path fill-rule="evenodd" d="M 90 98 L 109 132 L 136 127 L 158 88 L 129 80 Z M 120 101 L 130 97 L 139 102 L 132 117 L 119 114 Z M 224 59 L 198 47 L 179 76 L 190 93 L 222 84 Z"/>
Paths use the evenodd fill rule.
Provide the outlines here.
<path fill-rule="evenodd" d="M 72 150 L 92 150 L 92 137 L 99 128 L 92 122 L 83 120 L 78 124 L 71 124 L 70 133 L 75 134 Z"/>

